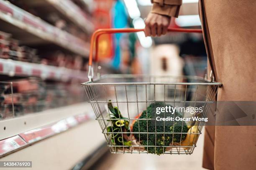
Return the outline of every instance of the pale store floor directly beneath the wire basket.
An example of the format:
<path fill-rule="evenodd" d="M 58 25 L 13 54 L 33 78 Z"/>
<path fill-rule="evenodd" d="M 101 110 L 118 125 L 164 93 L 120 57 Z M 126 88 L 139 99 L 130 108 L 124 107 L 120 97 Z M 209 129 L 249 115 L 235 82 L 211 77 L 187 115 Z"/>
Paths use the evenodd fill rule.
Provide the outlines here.
<path fill-rule="evenodd" d="M 93 170 L 205 170 L 202 168 L 204 129 L 192 155 L 108 153 Z"/>

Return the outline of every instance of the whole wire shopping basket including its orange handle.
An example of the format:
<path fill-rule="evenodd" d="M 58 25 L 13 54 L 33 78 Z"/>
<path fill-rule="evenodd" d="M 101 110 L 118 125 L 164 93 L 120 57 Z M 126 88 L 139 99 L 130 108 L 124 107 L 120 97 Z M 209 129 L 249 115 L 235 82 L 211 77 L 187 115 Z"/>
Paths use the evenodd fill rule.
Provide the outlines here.
<path fill-rule="evenodd" d="M 169 29 L 169 31 L 172 29 Z M 179 32 L 201 32 L 201 30 L 183 30 L 183 29 L 177 29 Z M 165 130 L 165 122 L 164 122 L 164 131 L 163 132 L 157 132 L 156 130 L 156 125 L 155 127 L 155 132 L 148 132 L 148 121 L 151 120 L 156 120 L 155 118 L 148 118 L 148 112 L 146 112 L 146 117 L 145 119 L 140 119 L 139 118 L 139 105 L 145 105 L 145 108 L 148 107 L 149 103 L 155 103 L 156 102 L 164 102 L 164 106 L 168 103 L 184 103 L 184 106 L 186 103 L 193 103 L 194 105 L 200 103 L 201 105 L 204 105 L 204 112 L 202 113 L 201 117 L 206 117 L 207 112 L 209 111 L 209 105 L 210 103 L 213 103 L 215 101 L 215 96 L 217 94 L 217 89 L 220 87 L 221 83 L 218 82 L 211 82 L 208 80 L 205 80 L 201 77 L 196 77 L 196 76 L 179 76 L 176 77 L 176 81 L 173 81 L 173 76 L 150 76 L 150 75 L 103 75 L 98 77 L 96 80 L 93 79 L 93 69 L 92 69 L 92 54 L 94 50 L 94 42 L 96 40 L 96 61 L 97 61 L 97 43 L 98 43 L 98 38 L 99 35 L 102 35 L 104 33 L 117 33 L 117 32 L 138 32 L 142 30 L 136 30 L 136 29 L 104 29 L 104 30 L 98 30 L 96 31 L 91 40 L 91 51 L 90 51 L 90 58 L 89 58 L 89 71 L 88 71 L 88 82 L 82 83 L 82 86 L 84 86 L 84 89 L 86 91 L 86 94 L 89 98 L 89 102 L 92 105 L 92 108 L 95 112 L 96 115 L 96 120 L 99 122 L 100 127 L 102 129 L 102 133 L 105 136 L 105 139 L 108 143 L 108 147 L 110 148 L 111 153 L 149 153 L 148 148 L 155 148 L 155 153 L 157 148 L 163 148 L 163 154 L 192 154 L 195 147 L 197 140 L 199 138 L 199 135 L 201 134 L 202 127 L 204 125 L 204 122 L 198 122 L 197 123 L 197 130 L 196 132 L 192 132 L 190 128 L 190 132 L 183 132 L 183 123 L 182 121 L 182 130 L 181 132 L 175 133 L 173 132 L 166 132 Z M 175 29 L 174 29 L 175 31 Z M 96 63 L 96 68 L 97 68 L 97 63 Z M 166 79 L 167 78 L 167 79 Z M 168 79 L 169 78 L 169 79 Z M 138 79 L 138 80 L 137 80 Z M 142 79 L 146 79 L 147 81 L 139 81 Z M 161 81 L 154 81 L 156 79 L 161 79 Z M 182 79 L 187 79 L 187 80 L 192 80 L 192 82 L 182 82 L 180 80 Z M 123 81 L 122 81 L 123 80 Z M 148 81 L 149 80 L 149 81 Z M 152 81 L 153 80 L 153 81 Z M 145 87 L 145 90 L 141 90 L 140 87 Z M 156 99 L 156 90 L 158 89 L 157 87 L 163 87 L 164 91 L 164 99 L 163 100 L 157 100 Z M 193 88 L 192 88 L 193 87 Z M 122 97 L 123 100 L 120 100 L 118 88 L 123 88 L 122 93 L 124 96 Z M 113 91 L 112 95 L 108 94 L 108 91 Z M 148 91 L 148 89 L 150 89 Z M 193 99 L 187 100 L 187 92 L 188 90 L 193 89 Z M 202 92 L 200 90 L 202 90 Z M 135 100 L 130 100 L 128 95 L 129 90 L 135 91 Z M 173 90 L 173 98 L 168 98 L 166 97 L 166 94 L 168 93 L 168 90 Z M 198 92 L 201 92 L 201 100 L 198 100 Z M 140 95 L 138 92 L 142 92 L 143 95 L 146 97 L 145 100 L 139 100 Z M 177 96 L 178 92 L 181 94 L 180 97 Z M 111 97 L 114 96 L 114 100 L 111 100 L 113 104 L 115 104 L 118 108 L 118 110 L 121 109 L 121 105 L 126 105 L 126 111 L 128 118 L 111 118 L 110 116 L 110 109 L 106 108 L 106 105 L 108 105 L 109 100 Z M 151 100 L 148 100 L 148 96 L 151 96 Z M 153 98 L 152 98 L 153 97 Z M 178 100 L 179 99 L 179 100 Z M 137 106 L 136 108 L 136 115 L 137 118 L 134 118 L 131 116 L 132 111 L 131 108 L 129 108 L 131 104 L 134 104 Z M 175 106 L 174 106 L 175 107 Z M 123 112 L 123 110 L 120 110 Z M 165 116 L 165 113 L 164 113 Z M 174 113 L 175 116 L 175 113 Z M 182 118 L 184 117 L 184 112 L 182 114 Z M 138 132 L 125 132 L 120 128 L 120 131 L 114 132 L 113 130 L 113 124 L 111 121 L 113 120 L 127 120 L 129 122 L 129 128 L 131 129 L 131 122 L 132 121 L 138 121 Z M 140 131 L 140 125 L 139 122 L 146 120 L 147 122 L 147 131 L 146 132 L 141 132 Z M 156 122 L 156 121 L 155 121 Z M 108 132 L 108 127 L 111 126 L 112 131 Z M 173 124 L 173 129 L 175 125 Z M 121 135 L 122 136 L 122 142 L 120 142 L 122 145 L 116 145 L 115 143 L 115 135 Z M 131 145 L 125 145 L 124 144 L 124 136 L 130 134 L 130 139 L 134 137 L 134 134 L 138 134 L 139 138 L 135 139 L 136 144 L 131 144 Z M 140 135 L 147 134 L 147 145 L 141 145 L 141 137 Z M 148 145 L 148 135 L 155 135 L 155 145 Z M 163 134 L 163 145 L 156 145 L 156 140 L 157 140 L 157 135 Z M 174 142 L 174 135 L 180 135 L 180 141 L 179 143 Z M 182 145 L 182 136 L 189 135 L 189 140 L 187 145 Z M 192 144 L 190 143 L 190 136 L 194 135 Z M 113 137 L 113 140 L 112 137 Z M 165 145 L 165 136 L 170 137 L 172 136 L 172 145 Z M 151 152 L 152 153 L 152 152 Z"/>

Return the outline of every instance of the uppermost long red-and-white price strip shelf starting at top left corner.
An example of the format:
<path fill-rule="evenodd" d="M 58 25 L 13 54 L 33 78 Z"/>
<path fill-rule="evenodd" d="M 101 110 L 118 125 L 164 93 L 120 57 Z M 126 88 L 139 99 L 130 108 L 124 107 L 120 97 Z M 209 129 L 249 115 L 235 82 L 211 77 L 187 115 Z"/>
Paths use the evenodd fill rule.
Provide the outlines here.
<path fill-rule="evenodd" d="M 46 23 L 8 1 L 0 0 L 0 25 L 2 31 L 11 33 L 24 45 L 53 43 L 62 50 L 74 54 L 84 57 L 89 54 L 89 43 Z"/>

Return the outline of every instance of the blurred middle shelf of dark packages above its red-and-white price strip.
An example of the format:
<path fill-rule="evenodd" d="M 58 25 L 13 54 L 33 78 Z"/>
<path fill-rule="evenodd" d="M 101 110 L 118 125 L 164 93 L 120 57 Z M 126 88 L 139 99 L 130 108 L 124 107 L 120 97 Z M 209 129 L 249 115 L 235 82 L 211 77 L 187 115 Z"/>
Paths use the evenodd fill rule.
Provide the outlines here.
<path fill-rule="evenodd" d="M 0 32 L 1 74 L 36 76 L 43 79 L 61 81 L 68 81 L 73 78 L 84 80 L 84 73 L 81 70 L 84 71 L 85 62 L 80 55 L 71 55 L 60 50 L 45 52 L 42 49 L 40 50 L 40 47 L 39 49 L 34 49 L 22 46 L 18 40 L 11 38 L 11 34 Z"/>

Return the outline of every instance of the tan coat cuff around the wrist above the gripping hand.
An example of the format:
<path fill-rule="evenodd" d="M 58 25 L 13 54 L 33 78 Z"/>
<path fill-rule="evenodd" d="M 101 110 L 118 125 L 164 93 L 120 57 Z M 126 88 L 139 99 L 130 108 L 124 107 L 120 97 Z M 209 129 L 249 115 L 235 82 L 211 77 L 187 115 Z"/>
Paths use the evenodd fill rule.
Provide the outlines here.
<path fill-rule="evenodd" d="M 154 2 L 151 8 L 151 13 L 167 15 L 170 17 L 178 17 L 179 16 L 180 5 L 160 5 L 158 2 Z"/>

